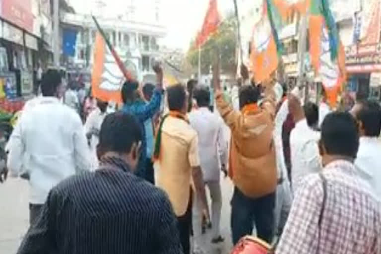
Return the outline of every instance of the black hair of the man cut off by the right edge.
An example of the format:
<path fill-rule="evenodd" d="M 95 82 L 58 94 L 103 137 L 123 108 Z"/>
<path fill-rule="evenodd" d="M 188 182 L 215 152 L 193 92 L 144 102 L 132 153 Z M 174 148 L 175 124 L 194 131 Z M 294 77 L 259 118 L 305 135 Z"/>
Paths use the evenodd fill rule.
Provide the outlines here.
<path fill-rule="evenodd" d="M 365 135 L 378 137 L 381 132 L 381 106 L 378 102 L 364 100 L 360 102 L 361 110 L 357 113 L 357 120 L 363 123 Z"/>

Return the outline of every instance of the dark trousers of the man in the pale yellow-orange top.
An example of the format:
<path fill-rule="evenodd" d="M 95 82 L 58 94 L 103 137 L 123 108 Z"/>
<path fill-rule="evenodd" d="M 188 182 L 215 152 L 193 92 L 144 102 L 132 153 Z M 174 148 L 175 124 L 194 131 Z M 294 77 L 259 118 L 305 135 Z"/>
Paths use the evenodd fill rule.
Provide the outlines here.
<path fill-rule="evenodd" d="M 180 234 L 180 242 L 183 246 L 183 253 L 190 254 L 191 252 L 191 229 L 192 229 L 192 190 L 189 198 L 188 208 L 185 214 L 177 217 L 177 227 Z"/>

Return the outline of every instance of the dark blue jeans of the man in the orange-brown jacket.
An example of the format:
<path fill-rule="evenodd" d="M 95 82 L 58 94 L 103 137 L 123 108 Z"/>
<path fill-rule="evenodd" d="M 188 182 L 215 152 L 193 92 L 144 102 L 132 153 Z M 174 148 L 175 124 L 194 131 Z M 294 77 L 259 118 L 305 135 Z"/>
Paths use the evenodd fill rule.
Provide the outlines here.
<path fill-rule="evenodd" d="M 274 234 L 275 193 L 253 199 L 236 187 L 231 205 L 230 223 L 234 245 L 242 237 L 252 235 L 254 223 L 257 237 L 271 243 Z"/>

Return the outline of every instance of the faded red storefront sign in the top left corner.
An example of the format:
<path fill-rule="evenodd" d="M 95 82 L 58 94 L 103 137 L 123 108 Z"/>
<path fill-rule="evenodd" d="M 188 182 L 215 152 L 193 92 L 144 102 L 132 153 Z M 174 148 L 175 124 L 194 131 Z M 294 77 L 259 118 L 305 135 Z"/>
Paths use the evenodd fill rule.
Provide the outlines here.
<path fill-rule="evenodd" d="M 34 16 L 31 12 L 31 0 L 1 0 L 1 18 L 33 32 Z"/>

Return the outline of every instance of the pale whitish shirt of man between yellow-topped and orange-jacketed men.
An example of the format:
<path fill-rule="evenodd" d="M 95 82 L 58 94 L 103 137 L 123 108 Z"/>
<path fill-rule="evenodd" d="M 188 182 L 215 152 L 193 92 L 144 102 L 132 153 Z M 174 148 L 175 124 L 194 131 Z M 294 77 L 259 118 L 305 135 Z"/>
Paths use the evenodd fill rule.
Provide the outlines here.
<path fill-rule="evenodd" d="M 222 120 L 206 107 L 192 111 L 189 120 L 198 135 L 198 153 L 204 182 L 220 181 L 219 159 L 221 164 L 226 164 L 227 161 Z"/>

